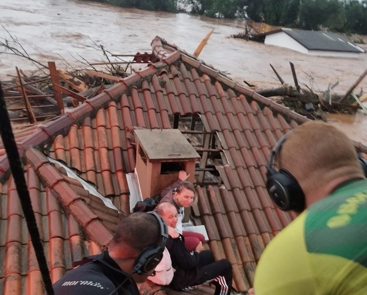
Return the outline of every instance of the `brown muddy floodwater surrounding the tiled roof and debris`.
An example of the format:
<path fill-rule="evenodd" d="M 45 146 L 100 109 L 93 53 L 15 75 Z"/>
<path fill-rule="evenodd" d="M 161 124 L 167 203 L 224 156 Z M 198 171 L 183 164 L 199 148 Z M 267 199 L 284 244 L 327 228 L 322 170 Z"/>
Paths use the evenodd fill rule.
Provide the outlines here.
<path fill-rule="evenodd" d="M 150 42 L 158 35 L 192 53 L 211 29 L 214 33 L 200 58 L 232 78 L 246 80 L 258 88 L 279 85 L 269 63 L 287 83 L 292 83 L 292 61 L 300 82 L 315 90 L 325 90 L 328 83 L 339 81 L 335 88 L 339 93 L 348 89 L 367 67 L 367 54 L 360 54 L 359 58 L 316 57 L 230 38 L 244 28 L 242 20 L 126 9 L 81 0 L 0 0 L 0 24 L 18 38 L 32 58 L 42 63 L 57 60 L 58 67 L 65 64 L 60 57 L 75 67 L 80 66 L 77 59 L 81 57 L 90 62 L 101 61 L 102 53 L 92 47 L 91 40 L 112 53 L 127 54 L 151 51 Z M 9 37 L 2 27 L 0 37 Z M 0 79 L 14 75 L 15 66 L 24 71 L 34 69 L 24 59 L 0 54 Z M 367 78 L 360 87 L 367 89 Z M 367 144 L 366 117 L 357 114 L 345 120 L 339 116 L 332 121 L 353 139 Z"/>

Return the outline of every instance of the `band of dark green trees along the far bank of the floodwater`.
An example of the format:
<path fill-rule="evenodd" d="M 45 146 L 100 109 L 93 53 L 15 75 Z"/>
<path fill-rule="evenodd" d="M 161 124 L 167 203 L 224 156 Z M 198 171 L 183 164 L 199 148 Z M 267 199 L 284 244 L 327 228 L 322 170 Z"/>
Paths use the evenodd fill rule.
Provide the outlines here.
<path fill-rule="evenodd" d="M 367 0 L 94 0 L 122 7 L 216 18 L 245 18 L 269 25 L 367 35 Z"/>

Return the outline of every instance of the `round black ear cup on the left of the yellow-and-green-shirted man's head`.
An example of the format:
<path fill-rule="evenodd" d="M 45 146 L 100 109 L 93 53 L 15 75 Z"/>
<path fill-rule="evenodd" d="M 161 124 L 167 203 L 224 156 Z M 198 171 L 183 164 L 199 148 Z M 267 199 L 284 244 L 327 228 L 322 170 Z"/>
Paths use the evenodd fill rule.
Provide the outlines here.
<path fill-rule="evenodd" d="M 275 205 L 283 211 L 301 212 L 305 209 L 305 196 L 297 180 L 287 170 L 269 171 L 266 188 Z"/>

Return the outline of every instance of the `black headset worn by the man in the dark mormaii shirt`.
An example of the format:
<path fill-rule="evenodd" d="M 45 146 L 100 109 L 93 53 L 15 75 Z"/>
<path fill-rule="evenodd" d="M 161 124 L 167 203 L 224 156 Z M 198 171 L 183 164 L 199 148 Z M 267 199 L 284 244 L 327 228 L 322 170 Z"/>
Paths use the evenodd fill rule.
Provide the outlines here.
<path fill-rule="evenodd" d="M 168 229 L 164 219 L 154 211 L 148 212 L 148 214 L 154 215 L 158 220 L 161 235 L 160 245 L 152 245 L 143 249 L 135 259 L 132 273 L 146 274 L 154 270 L 163 257 L 164 247 L 168 239 Z"/>

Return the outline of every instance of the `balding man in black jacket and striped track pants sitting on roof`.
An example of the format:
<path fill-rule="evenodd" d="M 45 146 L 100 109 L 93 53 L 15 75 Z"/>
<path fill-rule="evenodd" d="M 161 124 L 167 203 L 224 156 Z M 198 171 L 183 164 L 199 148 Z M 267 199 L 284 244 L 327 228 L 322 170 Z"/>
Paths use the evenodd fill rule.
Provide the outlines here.
<path fill-rule="evenodd" d="M 168 226 L 176 227 L 177 209 L 171 202 L 162 202 L 155 211 Z M 170 252 L 172 267 L 175 269 L 170 287 L 177 290 L 192 289 L 197 285 L 211 282 L 215 285 L 214 295 L 228 295 L 232 287 L 232 265 L 226 259 L 218 261 L 210 250 L 203 250 L 201 242 L 194 251 L 185 248 L 182 235 L 168 238 L 166 248 Z"/>

